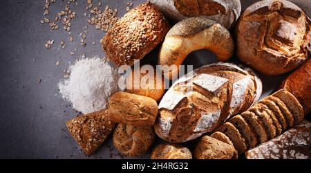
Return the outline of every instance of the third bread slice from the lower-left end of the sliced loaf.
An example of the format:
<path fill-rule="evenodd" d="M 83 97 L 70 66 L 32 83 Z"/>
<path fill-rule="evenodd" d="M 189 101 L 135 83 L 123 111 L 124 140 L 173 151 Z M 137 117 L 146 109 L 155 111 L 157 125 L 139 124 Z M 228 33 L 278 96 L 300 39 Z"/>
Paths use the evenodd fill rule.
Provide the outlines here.
<path fill-rule="evenodd" d="M 246 120 L 247 124 L 254 129 L 258 139 L 258 143 L 264 143 L 268 139 L 267 130 L 263 122 L 251 111 L 241 113 L 241 116 Z"/>

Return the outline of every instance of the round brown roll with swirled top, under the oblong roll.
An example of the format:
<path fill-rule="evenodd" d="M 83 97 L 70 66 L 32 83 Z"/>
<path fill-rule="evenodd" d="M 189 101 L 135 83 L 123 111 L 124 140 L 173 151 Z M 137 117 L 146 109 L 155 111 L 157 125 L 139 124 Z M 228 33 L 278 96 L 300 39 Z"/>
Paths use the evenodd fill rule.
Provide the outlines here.
<path fill-rule="evenodd" d="M 140 156 L 152 145 L 154 136 L 152 127 L 119 123 L 113 132 L 113 145 L 126 156 Z"/>

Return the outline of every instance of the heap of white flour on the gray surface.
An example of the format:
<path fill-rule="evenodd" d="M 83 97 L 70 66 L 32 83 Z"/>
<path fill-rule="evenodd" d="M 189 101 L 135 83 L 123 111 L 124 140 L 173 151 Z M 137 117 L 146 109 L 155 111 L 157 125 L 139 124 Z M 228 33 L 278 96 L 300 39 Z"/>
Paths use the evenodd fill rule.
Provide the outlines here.
<path fill-rule="evenodd" d="M 59 92 L 73 108 L 91 113 L 106 108 L 112 93 L 118 90 L 119 75 L 106 60 L 82 59 L 70 66 L 70 77 L 59 82 Z"/>

